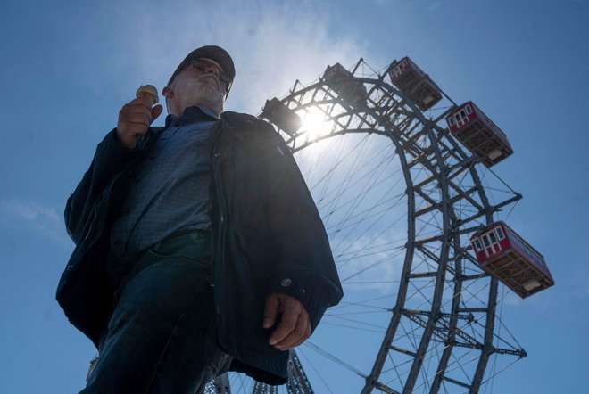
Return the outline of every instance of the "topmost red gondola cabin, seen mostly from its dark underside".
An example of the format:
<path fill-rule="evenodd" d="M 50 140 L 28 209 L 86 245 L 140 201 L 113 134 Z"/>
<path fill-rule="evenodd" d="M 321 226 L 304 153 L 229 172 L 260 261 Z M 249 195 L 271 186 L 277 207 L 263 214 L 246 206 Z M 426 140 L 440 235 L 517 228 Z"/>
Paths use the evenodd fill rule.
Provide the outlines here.
<path fill-rule="evenodd" d="M 426 111 L 442 100 L 442 91 L 425 72 L 419 69 L 408 56 L 394 61 L 388 71 L 394 86 L 416 103 L 421 111 Z"/>

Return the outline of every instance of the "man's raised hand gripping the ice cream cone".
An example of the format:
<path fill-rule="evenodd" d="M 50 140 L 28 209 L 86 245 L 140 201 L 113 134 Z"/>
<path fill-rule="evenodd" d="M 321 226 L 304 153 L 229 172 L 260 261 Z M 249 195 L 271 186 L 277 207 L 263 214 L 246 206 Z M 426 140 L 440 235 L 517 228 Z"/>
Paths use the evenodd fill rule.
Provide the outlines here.
<path fill-rule="evenodd" d="M 119 121 L 117 122 L 117 132 L 115 134 L 119 144 L 128 149 L 135 149 L 137 140 L 145 135 L 149 125 L 160 116 L 162 111 L 162 105 L 156 105 L 152 108 L 150 102 L 144 97 L 137 97 L 135 100 L 123 105 L 119 111 Z"/>

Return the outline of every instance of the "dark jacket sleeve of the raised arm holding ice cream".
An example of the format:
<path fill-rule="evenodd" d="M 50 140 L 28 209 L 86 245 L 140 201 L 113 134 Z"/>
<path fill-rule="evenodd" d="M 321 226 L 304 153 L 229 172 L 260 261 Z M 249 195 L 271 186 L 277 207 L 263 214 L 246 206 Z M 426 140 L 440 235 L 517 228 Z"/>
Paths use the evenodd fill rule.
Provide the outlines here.
<path fill-rule="evenodd" d="M 114 139 L 115 131 L 116 129 L 113 129 L 98 144 L 90 168 L 87 169 L 66 203 L 65 226 L 76 244 L 86 233 L 88 218 L 104 188 L 111 182 L 113 176 L 137 156 L 137 150 L 129 150 L 117 143 Z"/>

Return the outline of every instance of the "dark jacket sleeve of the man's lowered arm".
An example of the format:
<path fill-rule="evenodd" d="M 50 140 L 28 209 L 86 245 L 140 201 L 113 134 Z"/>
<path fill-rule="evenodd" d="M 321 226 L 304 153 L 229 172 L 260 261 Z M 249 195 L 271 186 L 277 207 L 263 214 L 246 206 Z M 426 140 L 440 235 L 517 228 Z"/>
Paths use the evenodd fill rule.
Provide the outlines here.
<path fill-rule="evenodd" d="M 294 157 L 274 128 L 264 126 L 256 145 L 264 190 L 261 211 L 270 229 L 274 257 L 268 269 L 268 291 L 300 300 L 315 329 L 325 310 L 341 300 L 341 283 L 328 235 Z"/>

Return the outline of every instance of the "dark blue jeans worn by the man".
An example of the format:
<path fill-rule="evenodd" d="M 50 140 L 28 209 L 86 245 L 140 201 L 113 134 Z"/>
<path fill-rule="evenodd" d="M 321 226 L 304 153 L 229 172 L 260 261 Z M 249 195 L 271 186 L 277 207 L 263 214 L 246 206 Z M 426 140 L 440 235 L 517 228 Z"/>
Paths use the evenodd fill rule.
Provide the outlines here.
<path fill-rule="evenodd" d="M 83 393 L 200 393 L 228 371 L 217 344 L 208 233 L 171 236 L 125 275 Z"/>

